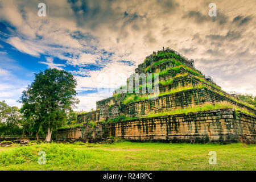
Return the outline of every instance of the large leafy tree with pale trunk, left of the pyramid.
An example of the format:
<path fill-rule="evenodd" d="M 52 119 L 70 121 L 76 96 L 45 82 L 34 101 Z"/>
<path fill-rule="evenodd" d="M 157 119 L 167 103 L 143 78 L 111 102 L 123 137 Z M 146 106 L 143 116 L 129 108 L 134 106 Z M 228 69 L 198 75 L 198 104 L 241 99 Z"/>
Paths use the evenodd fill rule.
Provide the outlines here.
<path fill-rule="evenodd" d="M 46 141 L 51 141 L 52 131 L 64 125 L 67 113 L 78 104 L 76 80 L 67 71 L 46 69 L 35 74 L 35 80 L 23 91 L 20 102 L 26 118 L 34 118 L 35 129 L 46 131 Z"/>

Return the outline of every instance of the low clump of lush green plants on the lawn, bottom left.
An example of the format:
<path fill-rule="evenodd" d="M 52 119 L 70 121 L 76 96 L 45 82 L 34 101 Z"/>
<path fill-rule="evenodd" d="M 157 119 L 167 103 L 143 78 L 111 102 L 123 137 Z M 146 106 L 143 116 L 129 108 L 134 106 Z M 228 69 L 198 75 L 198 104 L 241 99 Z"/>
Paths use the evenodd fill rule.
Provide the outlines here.
<path fill-rule="evenodd" d="M 38 164 L 39 151 L 46 152 L 47 166 L 62 166 L 70 164 L 82 164 L 91 157 L 90 154 L 77 151 L 65 144 L 40 144 L 36 146 L 17 147 L 14 150 L 0 152 L 0 164 L 7 166 L 10 164 L 32 163 Z M 43 165 L 42 165 L 43 166 Z"/>

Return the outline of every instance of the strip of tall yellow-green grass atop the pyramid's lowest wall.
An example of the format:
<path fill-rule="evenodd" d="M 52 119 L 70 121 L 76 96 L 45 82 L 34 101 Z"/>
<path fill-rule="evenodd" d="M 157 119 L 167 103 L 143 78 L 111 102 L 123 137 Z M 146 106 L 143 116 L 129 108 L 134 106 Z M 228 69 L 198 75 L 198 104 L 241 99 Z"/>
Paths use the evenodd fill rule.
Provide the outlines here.
<path fill-rule="evenodd" d="M 205 111 L 205 110 L 216 110 L 216 109 L 227 109 L 227 108 L 234 108 L 235 110 L 240 110 L 243 113 L 247 113 L 255 116 L 254 113 L 250 113 L 249 111 L 242 109 L 241 107 L 230 104 L 229 102 L 222 101 L 222 102 L 216 102 L 214 104 L 205 103 L 203 105 L 198 105 L 198 106 L 197 105 L 189 106 L 186 108 L 175 109 L 175 110 L 165 111 L 161 113 L 150 113 L 150 114 L 147 114 L 146 117 L 150 118 L 150 117 L 158 117 L 162 115 L 187 114 L 191 112 L 195 113 L 195 112 Z"/>

